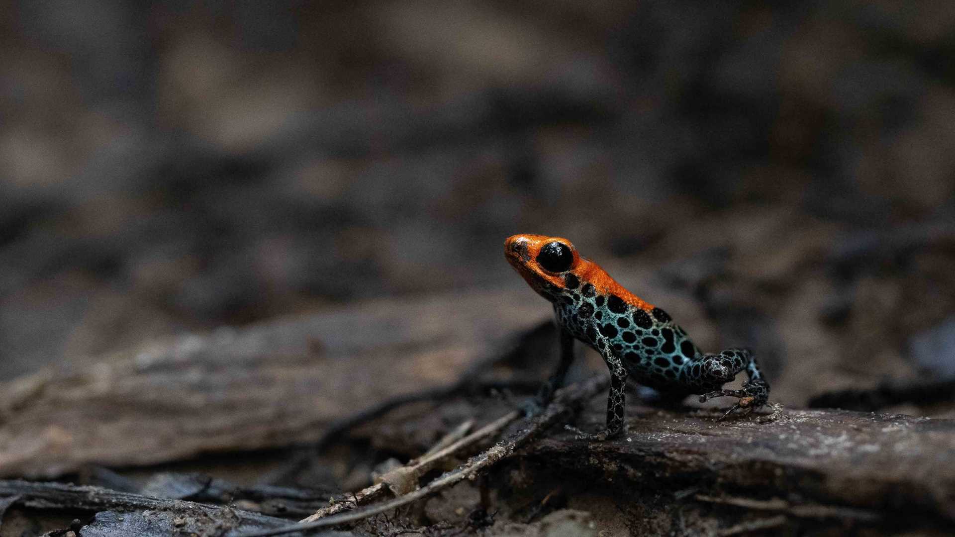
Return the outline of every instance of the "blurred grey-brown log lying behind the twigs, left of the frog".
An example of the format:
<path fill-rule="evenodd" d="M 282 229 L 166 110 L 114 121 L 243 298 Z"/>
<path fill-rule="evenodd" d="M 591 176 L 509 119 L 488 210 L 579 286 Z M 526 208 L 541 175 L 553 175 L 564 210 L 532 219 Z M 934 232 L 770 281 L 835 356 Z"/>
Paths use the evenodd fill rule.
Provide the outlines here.
<path fill-rule="evenodd" d="M 315 441 L 357 410 L 471 376 L 548 317 L 540 306 L 510 291 L 383 300 L 15 379 L 0 385 L 0 477 Z"/>

